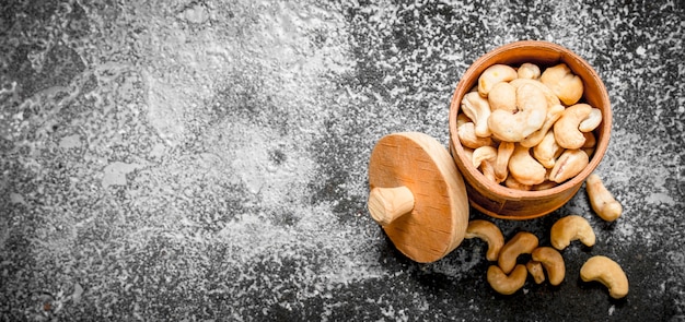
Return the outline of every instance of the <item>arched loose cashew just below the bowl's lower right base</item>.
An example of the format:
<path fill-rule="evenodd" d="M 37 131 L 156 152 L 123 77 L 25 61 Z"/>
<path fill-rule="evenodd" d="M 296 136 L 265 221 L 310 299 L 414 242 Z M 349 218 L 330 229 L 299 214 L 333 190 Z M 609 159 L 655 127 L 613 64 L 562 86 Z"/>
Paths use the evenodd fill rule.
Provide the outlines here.
<path fill-rule="evenodd" d="M 554 248 L 564 250 L 572 240 L 580 240 L 587 247 L 594 246 L 594 230 L 585 218 L 569 215 L 552 225 L 549 241 Z"/>

